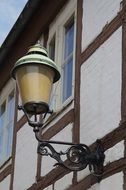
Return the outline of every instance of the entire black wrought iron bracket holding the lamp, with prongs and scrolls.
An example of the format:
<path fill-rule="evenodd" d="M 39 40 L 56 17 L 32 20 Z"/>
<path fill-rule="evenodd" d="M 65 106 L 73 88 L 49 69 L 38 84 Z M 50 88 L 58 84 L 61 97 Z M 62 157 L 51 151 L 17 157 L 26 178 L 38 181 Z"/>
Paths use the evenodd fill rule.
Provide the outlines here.
<path fill-rule="evenodd" d="M 44 122 L 38 122 L 36 115 L 34 116 L 34 121 L 31 121 L 29 115 L 25 112 L 22 106 L 19 106 L 18 109 L 23 110 L 29 125 L 33 127 L 35 137 L 38 141 L 38 154 L 42 156 L 50 156 L 56 160 L 56 164 L 54 166 L 60 165 L 70 171 L 80 171 L 88 166 L 90 172 L 93 172 L 94 175 L 99 176 L 103 173 L 105 154 L 100 140 L 96 141 L 95 149 L 91 150 L 85 144 L 74 144 L 71 142 L 42 139 L 40 137 L 40 131 Z M 57 152 L 52 144 L 67 146 L 67 149 L 66 151 Z"/>

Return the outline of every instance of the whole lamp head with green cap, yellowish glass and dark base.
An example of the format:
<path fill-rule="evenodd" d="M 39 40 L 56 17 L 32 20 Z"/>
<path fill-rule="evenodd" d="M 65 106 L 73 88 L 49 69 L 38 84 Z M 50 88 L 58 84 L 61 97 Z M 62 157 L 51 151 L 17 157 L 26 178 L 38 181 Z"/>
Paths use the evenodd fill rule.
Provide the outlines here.
<path fill-rule="evenodd" d="M 17 82 L 22 106 L 27 113 L 48 112 L 52 85 L 60 79 L 60 72 L 45 48 L 40 44 L 31 46 L 15 63 L 12 77 Z"/>

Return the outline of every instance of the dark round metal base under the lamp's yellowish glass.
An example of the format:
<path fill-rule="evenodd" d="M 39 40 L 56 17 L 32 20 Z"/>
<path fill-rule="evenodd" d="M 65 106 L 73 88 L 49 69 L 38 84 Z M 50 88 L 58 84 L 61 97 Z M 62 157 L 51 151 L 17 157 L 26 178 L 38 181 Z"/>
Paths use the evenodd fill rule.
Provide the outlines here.
<path fill-rule="evenodd" d="M 49 106 L 45 102 L 27 102 L 24 109 L 28 114 L 43 114 L 49 111 Z"/>

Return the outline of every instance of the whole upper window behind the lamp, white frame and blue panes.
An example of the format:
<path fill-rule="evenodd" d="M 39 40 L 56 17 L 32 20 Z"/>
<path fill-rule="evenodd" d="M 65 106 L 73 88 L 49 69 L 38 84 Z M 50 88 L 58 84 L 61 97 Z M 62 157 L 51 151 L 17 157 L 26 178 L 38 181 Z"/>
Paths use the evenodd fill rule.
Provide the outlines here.
<path fill-rule="evenodd" d="M 73 99 L 76 34 L 76 0 L 68 2 L 49 26 L 47 48 L 61 73 L 61 80 L 53 85 L 50 105 L 60 110 Z"/>

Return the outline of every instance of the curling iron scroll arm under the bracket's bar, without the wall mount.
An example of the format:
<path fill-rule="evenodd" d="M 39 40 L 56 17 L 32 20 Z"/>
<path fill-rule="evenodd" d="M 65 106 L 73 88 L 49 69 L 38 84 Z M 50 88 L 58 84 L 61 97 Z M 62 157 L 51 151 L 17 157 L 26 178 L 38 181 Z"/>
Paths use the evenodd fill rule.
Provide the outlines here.
<path fill-rule="evenodd" d="M 73 149 L 72 155 L 71 155 L 71 149 Z M 80 156 L 80 154 L 82 153 L 82 149 L 83 149 L 83 154 L 84 154 L 84 152 L 86 152 L 86 149 L 84 149 L 83 147 L 75 146 L 75 145 L 71 146 L 65 152 L 62 152 L 62 151 L 57 152 L 50 143 L 39 143 L 38 145 L 39 154 L 41 154 L 42 156 L 50 156 L 57 161 L 57 163 L 54 166 L 60 165 L 71 171 L 79 171 L 87 167 L 87 164 L 88 164 L 87 160 L 84 160 L 84 156 Z M 78 152 L 78 155 L 77 155 L 76 151 L 78 150 L 80 150 L 81 152 L 80 153 Z M 62 159 L 62 156 L 64 155 L 66 156 L 67 161 L 64 161 Z M 76 158 L 74 159 L 73 157 L 75 156 Z"/>

